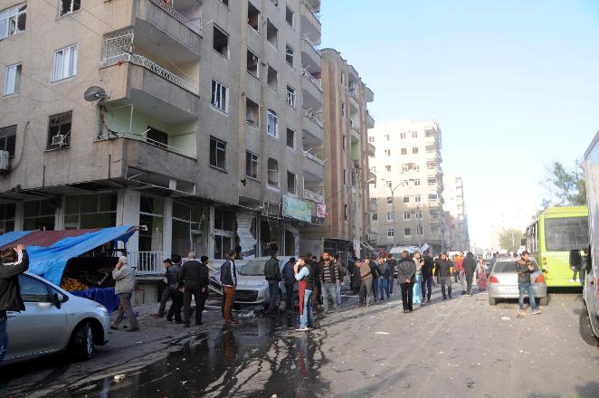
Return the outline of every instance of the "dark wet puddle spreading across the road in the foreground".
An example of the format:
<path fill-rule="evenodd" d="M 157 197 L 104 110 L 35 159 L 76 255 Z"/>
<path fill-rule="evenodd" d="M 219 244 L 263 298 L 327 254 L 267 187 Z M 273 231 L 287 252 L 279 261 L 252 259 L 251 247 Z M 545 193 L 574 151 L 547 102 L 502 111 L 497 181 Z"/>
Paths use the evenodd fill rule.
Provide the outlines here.
<path fill-rule="evenodd" d="M 136 371 L 53 396 L 185 397 L 321 396 L 327 384 L 320 368 L 327 362 L 320 351 L 324 331 L 296 332 L 297 316 L 256 317 L 212 336 L 198 333 L 195 342 L 165 359 Z M 318 357 L 318 363 L 314 357 Z"/>

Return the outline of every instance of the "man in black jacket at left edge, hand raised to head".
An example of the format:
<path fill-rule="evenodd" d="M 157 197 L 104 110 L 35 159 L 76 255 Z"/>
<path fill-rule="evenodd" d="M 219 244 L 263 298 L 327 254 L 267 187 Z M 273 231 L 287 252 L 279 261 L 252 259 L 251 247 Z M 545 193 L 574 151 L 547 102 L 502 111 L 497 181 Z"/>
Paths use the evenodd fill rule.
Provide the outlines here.
<path fill-rule="evenodd" d="M 19 275 L 29 270 L 29 256 L 23 245 L 5 249 L 0 254 L 0 362 L 8 349 L 6 311 L 24 311 L 19 289 Z"/>

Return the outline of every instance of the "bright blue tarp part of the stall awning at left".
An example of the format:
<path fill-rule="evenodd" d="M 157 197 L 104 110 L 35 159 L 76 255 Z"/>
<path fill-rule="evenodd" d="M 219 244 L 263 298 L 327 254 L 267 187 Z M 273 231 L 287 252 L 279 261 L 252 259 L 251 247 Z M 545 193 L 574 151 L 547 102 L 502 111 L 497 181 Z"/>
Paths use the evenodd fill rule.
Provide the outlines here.
<path fill-rule="evenodd" d="M 49 233 L 52 231 L 49 231 Z M 29 246 L 29 271 L 39 275 L 45 280 L 50 280 L 55 285 L 60 285 L 62 272 L 66 267 L 67 261 L 73 257 L 79 257 L 81 254 L 91 251 L 98 246 L 110 241 L 127 242 L 136 229 L 130 225 L 119 227 L 102 228 L 97 231 L 84 232 L 77 236 L 64 238 L 51 246 Z M 7 238 L 6 235 L 22 233 L 21 236 L 13 235 Z M 29 232 L 26 232 L 29 233 Z M 8 232 L 0 236 L 1 242 L 18 243 L 18 239 L 23 237 L 25 232 Z M 11 241 L 12 239 L 12 241 Z M 6 244 L 7 244 L 6 243 Z"/>

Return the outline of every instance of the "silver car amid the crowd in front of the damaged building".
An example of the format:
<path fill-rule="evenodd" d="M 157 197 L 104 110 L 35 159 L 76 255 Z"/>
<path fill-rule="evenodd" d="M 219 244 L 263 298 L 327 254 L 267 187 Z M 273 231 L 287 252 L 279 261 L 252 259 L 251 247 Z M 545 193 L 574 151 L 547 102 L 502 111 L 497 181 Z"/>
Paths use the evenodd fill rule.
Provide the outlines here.
<path fill-rule="evenodd" d="M 241 268 L 237 269 L 237 289 L 235 289 L 235 304 L 250 304 L 250 305 L 261 305 L 264 308 L 268 308 L 271 294 L 269 293 L 268 281 L 264 279 L 264 264 L 270 257 L 257 257 L 255 259 L 247 261 Z M 290 261 L 290 257 L 277 256 L 279 259 L 279 266 L 281 271 L 287 261 Z M 210 279 L 210 284 L 214 287 L 215 284 L 220 286 L 220 270 L 214 272 L 214 275 Z M 293 288 L 294 297 L 292 299 L 298 299 L 298 283 L 296 282 Z M 287 293 L 285 291 L 285 283 L 281 280 L 279 283 L 279 299 L 277 306 L 280 306 L 281 300 L 287 299 Z"/>

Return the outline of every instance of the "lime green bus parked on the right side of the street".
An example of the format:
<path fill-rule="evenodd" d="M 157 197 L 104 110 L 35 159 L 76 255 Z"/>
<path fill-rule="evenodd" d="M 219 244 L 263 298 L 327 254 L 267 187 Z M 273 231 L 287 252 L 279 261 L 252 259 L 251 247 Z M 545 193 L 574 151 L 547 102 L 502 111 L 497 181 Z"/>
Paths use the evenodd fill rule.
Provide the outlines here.
<path fill-rule="evenodd" d="M 589 245 L 586 206 L 548 208 L 528 226 L 525 237 L 527 250 L 545 272 L 547 287 L 580 288 L 580 280 L 572 279 L 569 258 L 570 251 L 586 251 Z"/>

